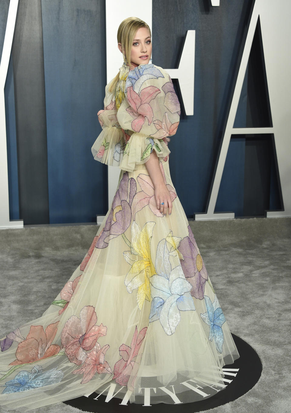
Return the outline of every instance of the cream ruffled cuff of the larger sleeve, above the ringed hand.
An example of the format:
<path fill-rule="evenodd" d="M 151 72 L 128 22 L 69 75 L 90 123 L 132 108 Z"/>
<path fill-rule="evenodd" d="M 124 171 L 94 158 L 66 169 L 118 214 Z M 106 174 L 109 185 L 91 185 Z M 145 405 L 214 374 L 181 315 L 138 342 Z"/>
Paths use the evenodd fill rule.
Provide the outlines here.
<path fill-rule="evenodd" d="M 143 133 L 133 133 L 126 144 L 119 168 L 133 172 L 136 169 L 136 165 L 144 164 L 148 161 L 153 150 L 155 150 L 159 158 L 165 158 L 170 153 L 167 144 L 162 139 L 151 138 L 143 135 Z"/>

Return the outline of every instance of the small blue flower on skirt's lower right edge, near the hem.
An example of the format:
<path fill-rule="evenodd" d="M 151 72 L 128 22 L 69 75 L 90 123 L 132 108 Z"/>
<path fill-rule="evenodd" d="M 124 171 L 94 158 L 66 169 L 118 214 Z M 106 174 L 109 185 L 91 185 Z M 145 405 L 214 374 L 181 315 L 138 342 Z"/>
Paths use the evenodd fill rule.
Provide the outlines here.
<path fill-rule="evenodd" d="M 211 302 L 210 298 L 205 295 L 204 296 L 205 304 L 206 304 L 206 313 L 201 313 L 200 316 L 203 321 L 210 327 L 209 332 L 209 339 L 212 341 L 214 337 L 215 347 L 219 353 L 222 353 L 222 344 L 224 342 L 223 332 L 222 332 L 222 324 L 226 321 L 222 309 L 219 307 L 219 302 L 217 296 L 215 294 L 215 299 L 213 303 Z"/>

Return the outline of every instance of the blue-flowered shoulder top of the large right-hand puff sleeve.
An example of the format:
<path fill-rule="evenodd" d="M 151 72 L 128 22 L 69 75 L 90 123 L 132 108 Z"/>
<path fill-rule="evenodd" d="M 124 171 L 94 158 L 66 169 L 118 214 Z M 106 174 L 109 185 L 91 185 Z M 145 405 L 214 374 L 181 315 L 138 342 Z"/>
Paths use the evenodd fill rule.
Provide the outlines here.
<path fill-rule="evenodd" d="M 155 64 L 142 64 L 130 70 L 126 79 L 125 89 L 131 87 L 135 92 L 149 85 L 164 85 L 171 81 L 165 69 Z"/>

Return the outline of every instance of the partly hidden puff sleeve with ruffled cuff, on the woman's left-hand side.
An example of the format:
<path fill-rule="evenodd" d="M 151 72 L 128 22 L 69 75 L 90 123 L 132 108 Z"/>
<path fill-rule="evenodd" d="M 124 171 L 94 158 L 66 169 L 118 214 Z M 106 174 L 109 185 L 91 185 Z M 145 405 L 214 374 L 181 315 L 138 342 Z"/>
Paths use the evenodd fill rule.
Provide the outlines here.
<path fill-rule="evenodd" d="M 98 112 L 98 120 L 102 132 L 95 140 L 91 152 L 96 161 L 109 166 L 119 166 L 125 147 L 124 133 L 117 120 L 115 91 L 108 91 L 110 83 L 105 87 L 104 109 Z"/>

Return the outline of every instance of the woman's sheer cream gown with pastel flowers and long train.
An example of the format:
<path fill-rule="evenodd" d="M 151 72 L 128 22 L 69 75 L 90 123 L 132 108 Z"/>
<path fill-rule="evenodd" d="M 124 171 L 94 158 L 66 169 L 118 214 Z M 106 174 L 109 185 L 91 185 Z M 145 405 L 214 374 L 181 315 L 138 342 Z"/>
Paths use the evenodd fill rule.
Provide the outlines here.
<path fill-rule="evenodd" d="M 169 173 L 180 106 L 154 64 L 119 69 L 98 112 L 96 160 L 121 169 L 88 254 L 43 315 L 0 340 L 0 405 L 29 409 L 93 392 L 121 404 L 186 403 L 225 387 L 239 357 Z M 173 210 L 157 210 L 155 150 Z M 205 394 L 205 392 L 204 392 Z M 209 394 L 209 393 L 208 393 Z"/>

